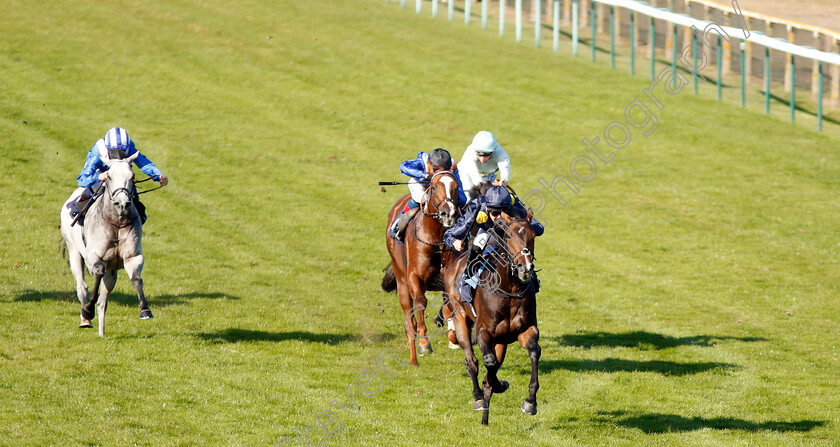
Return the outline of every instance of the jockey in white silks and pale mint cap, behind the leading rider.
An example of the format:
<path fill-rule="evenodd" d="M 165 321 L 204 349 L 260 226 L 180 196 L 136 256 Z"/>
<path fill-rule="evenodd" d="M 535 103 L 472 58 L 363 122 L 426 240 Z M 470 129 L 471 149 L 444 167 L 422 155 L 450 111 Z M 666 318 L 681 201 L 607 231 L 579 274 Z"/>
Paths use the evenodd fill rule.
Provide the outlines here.
<path fill-rule="evenodd" d="M 510 182 L 510 156 L 486 130 L 475 134 L 458 167 L 468 200 L 475 198 L 470 190 L 481 182 L 492 182 L 496 186 L 507 186 Z"/>

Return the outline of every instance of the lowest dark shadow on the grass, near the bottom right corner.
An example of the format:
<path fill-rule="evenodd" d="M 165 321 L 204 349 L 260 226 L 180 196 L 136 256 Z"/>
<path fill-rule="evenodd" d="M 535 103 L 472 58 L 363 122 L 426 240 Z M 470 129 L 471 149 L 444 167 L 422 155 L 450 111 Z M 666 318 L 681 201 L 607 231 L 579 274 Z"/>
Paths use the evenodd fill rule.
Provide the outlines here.
<path fill-rule="evenodd" d="M 619 419 L 616 419 L 619 418 Z M 684 417 L 676 414 L 650 413 L 626 415 L 623 411 L 599 413 L 599 422 L 608 422 L 627 428 L 636 428 L 645 433 L 686 432 L 703 429 L 806 432 L 822 427 L 827 421 L 767 421 L 752 422 L 736 418 Z"/>

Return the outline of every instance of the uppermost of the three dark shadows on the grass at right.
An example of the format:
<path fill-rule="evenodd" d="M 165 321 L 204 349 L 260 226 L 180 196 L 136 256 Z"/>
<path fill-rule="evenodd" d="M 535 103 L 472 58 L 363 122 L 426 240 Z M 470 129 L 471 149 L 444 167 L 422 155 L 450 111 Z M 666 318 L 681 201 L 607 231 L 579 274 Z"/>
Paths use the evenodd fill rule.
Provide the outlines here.
<path fill-rule="evenodd" d="M 693 335 L 690 337 L 672 337 L 670 335 L 653 332 L 586 332 L 580 334 L 547 337 L 556 341 L 560 346 L 575 346 L 578 348 L 608 347 L 608 348 L 640 348 L 644 350 L 676 348 L 678 346 L 714 346 L 718 341 L 734 340 L 742 342 L 766 341 L 762 337 L 731 337 L 715 335 Z"/>

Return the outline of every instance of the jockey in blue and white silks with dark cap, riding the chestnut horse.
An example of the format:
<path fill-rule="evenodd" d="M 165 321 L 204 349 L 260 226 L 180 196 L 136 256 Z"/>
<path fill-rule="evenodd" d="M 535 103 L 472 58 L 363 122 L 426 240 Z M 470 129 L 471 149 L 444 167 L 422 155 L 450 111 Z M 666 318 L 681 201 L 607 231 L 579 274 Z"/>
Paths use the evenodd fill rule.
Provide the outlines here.
<path fill-rule="evenodd" d="M 418 152 L 417 158 L 406 160 L 400 164 L 400 171 L 403 174 L 411 177 L 408 181 L 408 191 L 411 193 L 411 198 L 402 210 L 399 219 L 394 221 L 391 227 L 391 236 L 398 240 L 402 240 L 405 235 L 405 229 L 408 223 L 417 214 L 420 209 L 420 202 L 423 200 L 423 195 L 429 188 L 429 181 L 432 176 L 441 171 L 454 171 L 455 179 L 458 181 L 458 199 L 460 206 L 467 203 L 464 189 L 461 187 L 461 181 L 458 178 L 457 167 L 452 163 L 452 156 L 445 149 L 437 148 L 428 154 L 425 152 Z"/>

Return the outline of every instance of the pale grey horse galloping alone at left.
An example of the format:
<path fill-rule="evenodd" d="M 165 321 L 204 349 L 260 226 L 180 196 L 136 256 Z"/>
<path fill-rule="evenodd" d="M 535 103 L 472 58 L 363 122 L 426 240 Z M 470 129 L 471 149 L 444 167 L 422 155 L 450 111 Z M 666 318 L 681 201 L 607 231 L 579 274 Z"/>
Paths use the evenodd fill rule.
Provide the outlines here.
<path fill-rule="evenodd" d="M 94 306 L 98 305 L 99 335 L 105 335 L 105 310 L 108 294 L 117 282 L 117 270 L 125 269 L 140 300 L 140 319 L 153 318 L 143 294 L 143 249 L 140 240 L 143 227 L 134 206 L 137 194 L 131 163 L 140 153 L 122 160 L 109 160 L 108 178 L 103 181 L 105 192 L 89 205 L 84 225 L 73 225 L 67 204 L 84 191 L 76 189 L 61 208 L 61 235 L 67 246 L 70 271 L 76 279 L 76 297 L 82 305 L 79 327 L 92 327 Z M 88 301 L 85 266 L 93 275 L 92 299 Z M 102 289 L 100 290 L 100 285 Z"/>

